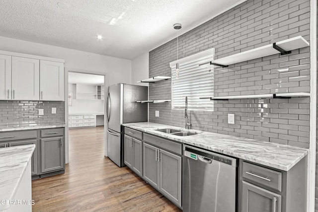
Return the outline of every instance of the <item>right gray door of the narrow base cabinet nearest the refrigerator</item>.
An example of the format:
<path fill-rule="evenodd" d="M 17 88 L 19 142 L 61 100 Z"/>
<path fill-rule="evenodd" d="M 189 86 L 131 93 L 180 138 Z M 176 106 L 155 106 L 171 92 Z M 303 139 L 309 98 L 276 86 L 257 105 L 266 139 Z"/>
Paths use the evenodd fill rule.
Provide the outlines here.
<path fill-rule="evenodd" d="M 139 175 L 143 176 L 143 142 L 137 139 L 132 139 L 132 153 L 133 153 L 133 170 Z"/>

